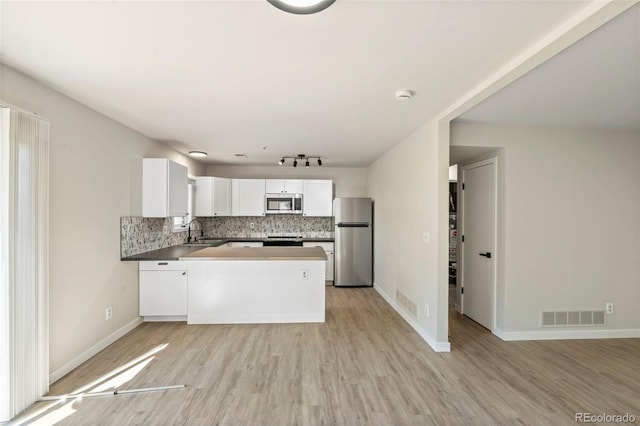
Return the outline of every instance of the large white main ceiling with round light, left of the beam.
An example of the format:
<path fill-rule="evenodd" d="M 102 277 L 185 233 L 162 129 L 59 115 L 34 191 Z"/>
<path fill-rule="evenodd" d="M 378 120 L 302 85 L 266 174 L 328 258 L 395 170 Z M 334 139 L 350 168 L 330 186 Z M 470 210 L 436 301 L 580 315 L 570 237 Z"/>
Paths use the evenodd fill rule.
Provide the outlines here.
<path fill-rule="evenodd" d="M 0 60 L 211 163 L 364 166 L 586 4 L 2 1 Z"/>

